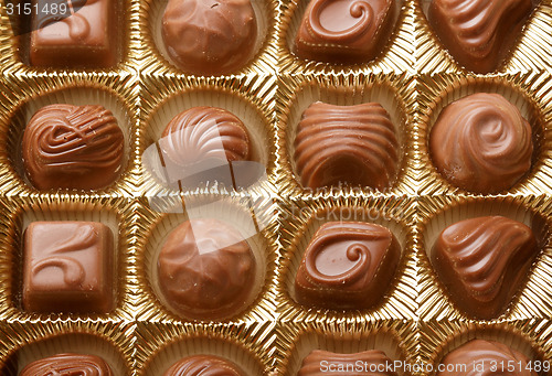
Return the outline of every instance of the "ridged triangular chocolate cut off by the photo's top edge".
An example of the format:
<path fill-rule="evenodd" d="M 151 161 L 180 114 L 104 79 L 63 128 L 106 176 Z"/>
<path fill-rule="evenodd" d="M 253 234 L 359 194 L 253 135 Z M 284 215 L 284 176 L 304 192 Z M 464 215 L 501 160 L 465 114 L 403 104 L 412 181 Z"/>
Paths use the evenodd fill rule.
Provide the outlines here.
<path fill-rule="evenodd" d="M 458 63 L 489 73 L 513 47 L 531 10 L 531 0 L 433 0 L 428 20 Z"/>

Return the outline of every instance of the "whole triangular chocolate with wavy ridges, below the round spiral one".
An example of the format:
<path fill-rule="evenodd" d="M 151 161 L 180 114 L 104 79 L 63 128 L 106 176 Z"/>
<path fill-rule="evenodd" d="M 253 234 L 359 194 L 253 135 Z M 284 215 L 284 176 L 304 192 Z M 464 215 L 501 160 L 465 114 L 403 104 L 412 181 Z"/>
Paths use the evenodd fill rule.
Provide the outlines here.
<path fill-rule="evenodd" d="M 488 216 L 445 228 L 432 259 L 450 299 L 463 311 L 492 319 L 509 304 L 537 254 L 531 228 L 510 218 Z"/>

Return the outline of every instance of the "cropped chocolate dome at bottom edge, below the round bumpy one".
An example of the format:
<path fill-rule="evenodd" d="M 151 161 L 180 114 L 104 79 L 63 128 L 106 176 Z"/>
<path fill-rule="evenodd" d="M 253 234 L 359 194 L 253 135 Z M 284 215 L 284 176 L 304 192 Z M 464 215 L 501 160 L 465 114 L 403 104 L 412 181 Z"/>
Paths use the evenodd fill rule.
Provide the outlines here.
<path fill-rule="evenodd" d="M 223 357 L 192 355 L 174 363 L 163 376 L 245 376 L 245 373 Z"/>

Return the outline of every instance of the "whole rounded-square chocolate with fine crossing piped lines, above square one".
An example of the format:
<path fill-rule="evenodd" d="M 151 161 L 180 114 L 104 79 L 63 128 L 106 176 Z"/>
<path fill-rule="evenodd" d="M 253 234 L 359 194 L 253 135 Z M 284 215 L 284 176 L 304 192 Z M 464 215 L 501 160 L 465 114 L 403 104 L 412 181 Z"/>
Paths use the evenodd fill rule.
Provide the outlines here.
<path fill-rule="evenodd" d="M 120 173 L 123 151 L 123 131 L 102 106 L 45 106 L 23 135 L 26 176 L 39 190 L 106 187 Z"/>

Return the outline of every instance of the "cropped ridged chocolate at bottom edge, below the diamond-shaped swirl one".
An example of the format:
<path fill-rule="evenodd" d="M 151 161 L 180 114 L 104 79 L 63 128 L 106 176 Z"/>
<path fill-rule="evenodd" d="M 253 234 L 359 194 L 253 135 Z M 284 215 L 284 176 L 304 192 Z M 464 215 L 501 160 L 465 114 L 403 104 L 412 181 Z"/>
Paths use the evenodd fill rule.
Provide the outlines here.
<path fill-rule="evenodd" d="M 322 376 L 328 374 L 335 376 L 396 376 L 392 364 L 393 361 L 379 350 L 369 350 L 353 354 L 339 354 L 315 350 L 302 359 L 302 365 L 297 376 Z"/>

